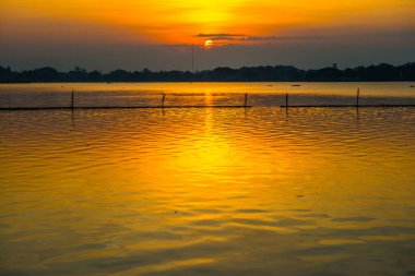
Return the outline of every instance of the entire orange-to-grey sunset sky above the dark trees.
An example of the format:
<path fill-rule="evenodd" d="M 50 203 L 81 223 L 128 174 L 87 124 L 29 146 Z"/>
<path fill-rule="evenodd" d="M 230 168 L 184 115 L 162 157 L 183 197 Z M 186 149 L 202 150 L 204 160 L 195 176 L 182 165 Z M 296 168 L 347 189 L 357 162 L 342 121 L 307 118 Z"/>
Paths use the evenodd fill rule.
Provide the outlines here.
<path fill-rule="evenodd" d="M 415 61 L 414 14 L 414 0 L 1 0 L 0 65 L 403 64 Z"/>

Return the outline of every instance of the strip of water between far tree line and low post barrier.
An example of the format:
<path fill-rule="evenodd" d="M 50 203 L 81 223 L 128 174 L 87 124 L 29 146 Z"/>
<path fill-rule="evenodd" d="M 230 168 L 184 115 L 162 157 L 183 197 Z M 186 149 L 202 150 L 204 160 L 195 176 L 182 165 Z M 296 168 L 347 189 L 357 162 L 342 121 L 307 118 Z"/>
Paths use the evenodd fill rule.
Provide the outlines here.
<path fill-rule="evenodd" d="M 0 84 L 1 107 L 76 107 L 244 105 L 415 105 L 413 83 L 33 83 Z"/>

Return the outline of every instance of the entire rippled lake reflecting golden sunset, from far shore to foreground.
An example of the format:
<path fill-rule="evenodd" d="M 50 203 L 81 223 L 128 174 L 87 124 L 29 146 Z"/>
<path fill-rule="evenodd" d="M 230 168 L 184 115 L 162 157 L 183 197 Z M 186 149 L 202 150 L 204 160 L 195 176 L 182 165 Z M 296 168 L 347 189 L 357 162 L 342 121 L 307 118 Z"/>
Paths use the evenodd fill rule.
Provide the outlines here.
<path fill-rule="evenodd" d="M 0 107 L 253 107 L 1 110 L 0 275 L 415 275 L 415 108 L 280 108 L 415 88 L 293 84 L 1 84 Z"/>

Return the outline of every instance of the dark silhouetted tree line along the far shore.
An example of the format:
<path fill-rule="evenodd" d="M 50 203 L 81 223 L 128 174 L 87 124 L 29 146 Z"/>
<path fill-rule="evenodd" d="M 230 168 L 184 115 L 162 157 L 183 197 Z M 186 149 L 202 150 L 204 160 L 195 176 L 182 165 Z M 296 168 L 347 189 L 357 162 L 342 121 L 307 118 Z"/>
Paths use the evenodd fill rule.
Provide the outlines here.
<path fill-rule="evenodd" d="M 199 72 L 115 70 L 109 73 L 75 68 L 69 72 L 45 67 L 28 71 L 12 71 L 0 65 L 0 83 L 36 82 L 393 82 L 415 81 L 415 62 L 394 67 L 387 63 L 340 70 L 336 67 L 301 70 L 295 67 L 226 67 Z"/>

